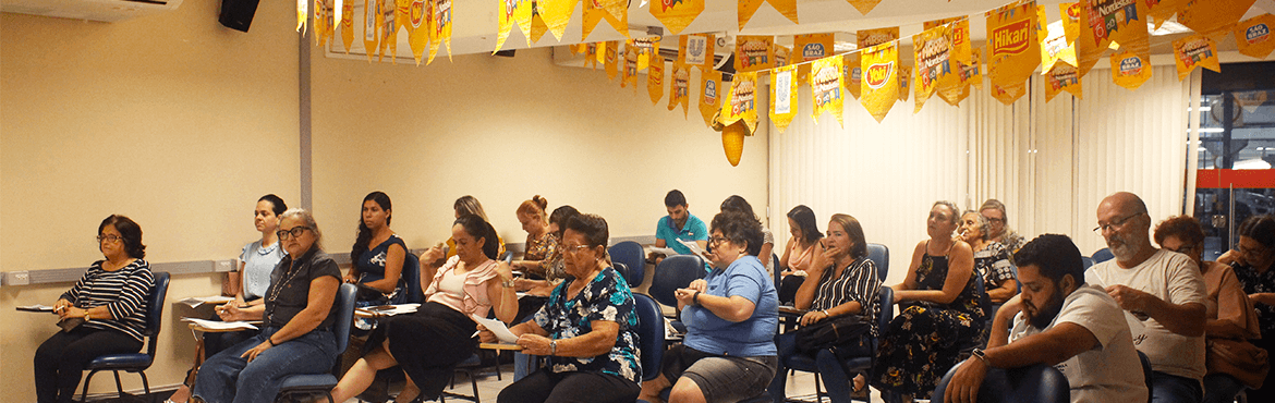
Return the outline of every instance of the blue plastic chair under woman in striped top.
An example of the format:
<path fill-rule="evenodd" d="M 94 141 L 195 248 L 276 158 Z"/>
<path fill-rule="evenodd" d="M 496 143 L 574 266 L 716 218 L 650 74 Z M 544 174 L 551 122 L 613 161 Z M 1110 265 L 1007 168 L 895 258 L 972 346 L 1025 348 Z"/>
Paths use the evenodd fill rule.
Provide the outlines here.
<path fill-rule="evenodd" d="M 93 374 L 98 371 L 111 371 L 115 374 L 115 389 L 120 397 L 124 397 L 124 384 L 120 383 L 120 371 L 142 375 L 142 388 L 147 394 L 150 394 L 147 369 L 150 369 L 150 363 L 156 361 L 156 344 L 159 343 L 156 338 L 159 337 L 159 324 L 163 323 L 164 298 L 168 296 L 168 273 L 152 273 L 152 279 L 154 281 L 154 287 L 150 288 L 150 295 L 147 297 L 147 326 L 142 330 L 142 337 L 147 339 L 147 352 L 106 355 L 93 358 L 84 367 L 88 375 L 84 376 L 84 390 L 80 392 L 80 402 L 85 402 L 88 384 L 93 380 Z"/>

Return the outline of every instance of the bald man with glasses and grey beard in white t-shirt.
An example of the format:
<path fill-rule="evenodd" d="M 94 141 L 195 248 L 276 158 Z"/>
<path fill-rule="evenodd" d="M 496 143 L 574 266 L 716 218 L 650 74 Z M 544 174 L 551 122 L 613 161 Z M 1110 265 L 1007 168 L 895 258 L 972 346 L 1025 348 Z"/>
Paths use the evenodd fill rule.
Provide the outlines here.
<path fill-rule="evenodd" d="M 1125 309 L 1133 346 L 1151 361 L 1154 402 L 1200 402 L 1205 375 L 1206 287 L 1195 261 L 1151 245 L 1151 217 L 1131 193 L 1098 205 L 1098 228 L 1116 259 L 1085 273 Z"/>

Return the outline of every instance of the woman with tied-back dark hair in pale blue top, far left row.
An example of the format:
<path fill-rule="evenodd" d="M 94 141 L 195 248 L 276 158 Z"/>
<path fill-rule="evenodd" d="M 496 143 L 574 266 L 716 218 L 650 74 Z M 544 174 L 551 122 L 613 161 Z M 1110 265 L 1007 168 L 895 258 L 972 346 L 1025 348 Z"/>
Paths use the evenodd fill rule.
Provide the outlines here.
<path fill-rule="evenodd" d="M 273 194 L 264 195 L 256 200 L 256 209 L 252 212 L 252 221 L 256 231 L 261 232 L 261 238 L 249 242 L 240 253 L 240 269 L 231 273 L 227 282 L 235 301 L 214 307 L 218 320 L 259 320 L 265 311 L 263 305 L 265 291 L 270 288 L 270 273 L 274 267 L 287 256 L 287 251 L 279 246 L 279 236 L 274 233 L 279 227 L 279 214 L 283 214 L 288 205 L 283 199 Z M 256 335 L 256 330 L 242 332 L 208 332 L 204 333 L 204 357 L 212 357 L 222 349 L 238 344 Z M 190 385 L 195 384 L 195 371 L 186 374 L 186 381 L 168 397 L 170 402 L 186 402 L 190 398 Z"/>

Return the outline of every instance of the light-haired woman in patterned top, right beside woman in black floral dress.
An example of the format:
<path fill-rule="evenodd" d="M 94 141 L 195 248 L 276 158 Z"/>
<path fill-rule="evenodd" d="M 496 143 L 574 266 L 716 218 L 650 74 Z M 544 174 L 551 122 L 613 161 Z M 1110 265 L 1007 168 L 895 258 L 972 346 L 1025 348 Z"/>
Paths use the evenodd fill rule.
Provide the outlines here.
<path fill-rule="evenodd" d="M 974 272 L 983 277 L 983 289 L 994 305 L 1005 304 L 1019 295 L 1019 281 L 1014 277 L 1014 263 L 1010 261 L 1010 249 L 992 241 L 988 235 L 991 223 L 975 210 L 965 210 L 960 217 L 958 233 L 961 241 L 974 250 Z M 992 318 L 993 312 L 987 312 Z"/>

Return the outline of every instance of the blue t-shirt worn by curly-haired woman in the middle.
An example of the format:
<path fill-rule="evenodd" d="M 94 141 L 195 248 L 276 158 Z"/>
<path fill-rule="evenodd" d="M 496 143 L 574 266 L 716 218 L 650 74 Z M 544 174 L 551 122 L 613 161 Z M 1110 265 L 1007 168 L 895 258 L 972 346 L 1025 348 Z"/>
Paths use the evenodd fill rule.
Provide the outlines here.
<path fill-rule="evenodd" d="M 741 296 L 756 304 L 752 318 L 733 323 L 718 318 L 699 305 L 682 310 L 686 324 L 685 344 L 714 355 L 740 357 L 774 356 L 775 330 L 779 328 L 779 293 L 766 275 L 766 268 L 757 256 L 743 256 L 731 267 L 714 269 L 704 278 L 705 293 L 711 296 Z"/>

